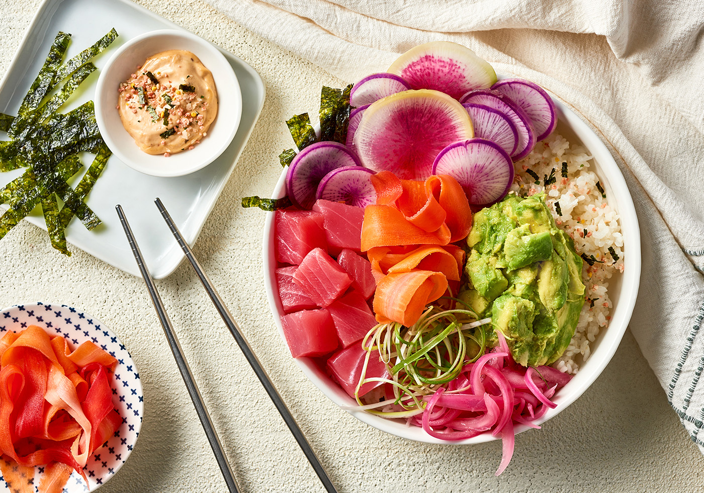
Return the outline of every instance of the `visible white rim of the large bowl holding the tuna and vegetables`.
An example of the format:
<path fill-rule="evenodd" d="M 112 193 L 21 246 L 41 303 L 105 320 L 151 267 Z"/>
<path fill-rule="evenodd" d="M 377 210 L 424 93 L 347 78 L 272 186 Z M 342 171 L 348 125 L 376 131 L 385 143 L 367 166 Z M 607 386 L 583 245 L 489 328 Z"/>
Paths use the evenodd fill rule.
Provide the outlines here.
<path fill-rule="evenodd" d="M 641 236 L 638 218 L 636 217 L 636 210 L 623 175 L 606 146 L 589 126 L 558 101 L 555 101 L 555 105 L 558 110 L 558 127 L 555 131 L 565 137 L 570 144 L 582 144 L 589 150 L 596 165 L 590 169 L 597 173 L 605 189 L 609 205 L 614 207 L 620 215 L 621 230 L 624 238 L 624 273 L 620 276 L 615 275 L 609 280 L 609 297 L 613 303 L 613 308 L 608 328 L 602 329 L 596 340 L 591 343 L 591 356 L 586 362 L 581 364 L 579 373 L 574 375 L 572 380 L 555 394 L 553 401 L 557 404 L 557 407 L 549 409 L 540 420 L 536 421 L 536 424 L 543 423 L 572 404 L 601 374 L 615 353 L 626 331 L 634 304 L 636 303 L 641 277 Z M 273 196 L 279 197 L 286 193 L 284 177 L 285 170 L 279 178 Z M 275 277 L 277 263 L 274 253 L 273 218 L 274 214 L 268 213 L 264 225 L 264 281 L 269 304 L 279 329 L 279 335 L 281 335 L 284 344 L 286 344 L 280 320 L 284 311 L 279 299 Z M 330 380 L 310 358 L 296 358 L 296 363 L 301 367 L 303 373 L 336 404 L 339 406 L 357 405 L 356 401 L 351 399 L 337 383 Z M 365 411 L 348 412 L 360 421 L 379 430 L 417 442 L 475 444 L 496 439 L 496 437 L 491 436 L 491 432 L 485 432 L 470 439 L 444 441 L 427 435 L 420 427 L 409 427 L 401 420 L 380 418 Z M 515 426 L 516 432 L 522 432 L 527 429 L 528 427 L 525 425 Z"/>

